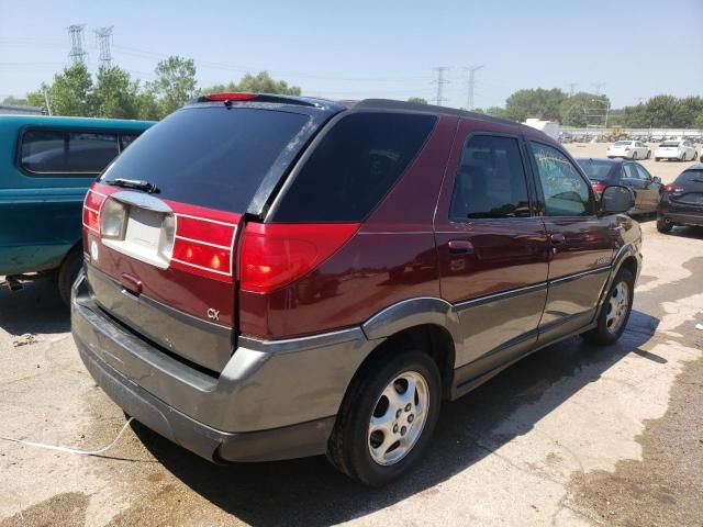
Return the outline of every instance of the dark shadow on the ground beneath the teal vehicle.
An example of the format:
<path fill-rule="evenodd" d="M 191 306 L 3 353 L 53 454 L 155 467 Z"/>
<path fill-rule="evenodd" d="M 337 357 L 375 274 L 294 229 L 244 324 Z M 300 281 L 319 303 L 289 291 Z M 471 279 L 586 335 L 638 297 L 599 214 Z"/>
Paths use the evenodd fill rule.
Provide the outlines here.
<path fill-rule="evenodd" d="M 29 282 L 20 291 L 0 284 L 0 327 L 11 335 L 69 332 L 70 313 L 58 295 L 56 280 Z"/>

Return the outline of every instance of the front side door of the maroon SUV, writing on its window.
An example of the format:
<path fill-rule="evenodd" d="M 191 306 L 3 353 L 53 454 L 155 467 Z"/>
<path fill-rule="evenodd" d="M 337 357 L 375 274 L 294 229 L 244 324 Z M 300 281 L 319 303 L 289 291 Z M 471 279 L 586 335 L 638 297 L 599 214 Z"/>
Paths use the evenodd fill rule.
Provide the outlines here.
<path fill-rule="evenodd" d="M 591 186 L 556 146 L 529 142 L 549 240 L 549 289 L 539 323 L 546 344 L 588 325 L 610 273 L 616 225 L 599 217 Z"/>

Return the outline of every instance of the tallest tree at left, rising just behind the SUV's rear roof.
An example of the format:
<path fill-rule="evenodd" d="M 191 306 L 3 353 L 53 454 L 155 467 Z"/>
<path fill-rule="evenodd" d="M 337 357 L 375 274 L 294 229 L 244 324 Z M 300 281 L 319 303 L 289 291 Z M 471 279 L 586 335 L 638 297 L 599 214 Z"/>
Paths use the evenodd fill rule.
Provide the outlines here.
<path fill-rule="evenodd" d="M 158 104 L 159 116 L 178 110 L 198 93 L 196 64 L 190 58 L 168 57 L 156 65 L 156 80 L 147 86 Z"/>

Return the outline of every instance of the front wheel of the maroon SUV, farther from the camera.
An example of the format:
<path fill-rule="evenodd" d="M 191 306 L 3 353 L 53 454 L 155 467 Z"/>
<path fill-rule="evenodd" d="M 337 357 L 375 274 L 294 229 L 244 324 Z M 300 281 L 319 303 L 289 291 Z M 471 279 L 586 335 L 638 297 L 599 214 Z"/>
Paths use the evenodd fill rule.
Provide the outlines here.
<path fill-rule="evenodd" d="M 585 341 L 599 345 L 609 345 L 617 341 L 629 319 L 634 289 L 635 277 L 633 277 L 629 269 L 617 271 L 598 314 L 596 327 L 581 334 Z"/>

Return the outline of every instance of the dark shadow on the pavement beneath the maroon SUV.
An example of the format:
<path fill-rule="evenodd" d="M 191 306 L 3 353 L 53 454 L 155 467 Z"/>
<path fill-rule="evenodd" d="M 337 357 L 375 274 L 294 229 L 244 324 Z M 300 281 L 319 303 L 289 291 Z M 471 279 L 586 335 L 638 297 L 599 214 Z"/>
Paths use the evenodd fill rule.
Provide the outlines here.
<path fill-rule="evenodd" d="M 640 349 L 659 321 L 633 311 L 621 340 L 593 347 L 579 337 L 540 350 L 465 397 L 445 403 L 432 448 L 397 483 L 371 490 L 337 473 L 324 457 L 213 466 L 140 424 L 133 428 L 164 467 L 203 497 L 252 525 L 330 525 L 367 515 L 432 487 L 529 431 L 584 385 Z M 513 415 L 520 410 L 520 419 Z M 494 431 L 500 426 L 500 434 Z"/>

